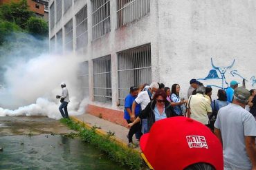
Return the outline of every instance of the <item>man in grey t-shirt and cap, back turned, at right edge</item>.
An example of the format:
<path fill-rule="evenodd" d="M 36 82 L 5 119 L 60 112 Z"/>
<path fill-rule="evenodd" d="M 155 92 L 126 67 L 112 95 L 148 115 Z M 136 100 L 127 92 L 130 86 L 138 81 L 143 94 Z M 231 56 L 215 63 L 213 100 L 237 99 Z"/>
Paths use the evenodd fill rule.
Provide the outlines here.
<path fill-rule="evenodd" d="M 219 109 L 214 123 L 214 134 L 223 144 L 225 170 L 256 170 L 256 122 L 244 109 L 249 97 L 247 89 L 237 87 L 233 102 Z"/>

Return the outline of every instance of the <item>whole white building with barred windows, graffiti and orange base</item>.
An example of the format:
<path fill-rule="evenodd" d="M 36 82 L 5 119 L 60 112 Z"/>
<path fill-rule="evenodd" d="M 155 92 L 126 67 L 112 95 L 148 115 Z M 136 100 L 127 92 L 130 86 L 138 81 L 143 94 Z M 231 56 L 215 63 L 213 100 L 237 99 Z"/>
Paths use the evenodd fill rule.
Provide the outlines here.
<path fill-rule="evenodd" d="M 87 111 L 125 125 L 129 87 L 181 85 L 196 78 L 214 91 L 243 80 L 255 88 L 254 1 L 50 0 L 50 49 L 84 56 Z"/>

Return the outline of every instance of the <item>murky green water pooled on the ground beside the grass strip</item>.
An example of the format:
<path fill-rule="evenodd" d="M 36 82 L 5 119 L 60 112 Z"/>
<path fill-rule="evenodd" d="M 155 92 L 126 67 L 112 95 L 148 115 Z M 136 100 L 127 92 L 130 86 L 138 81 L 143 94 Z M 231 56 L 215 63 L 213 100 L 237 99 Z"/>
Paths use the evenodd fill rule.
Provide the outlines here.
<path fill-rule="evenodd" d="M 1 136 L 0 169 L 123 169 L 100 151 L 64 136 Z"/>

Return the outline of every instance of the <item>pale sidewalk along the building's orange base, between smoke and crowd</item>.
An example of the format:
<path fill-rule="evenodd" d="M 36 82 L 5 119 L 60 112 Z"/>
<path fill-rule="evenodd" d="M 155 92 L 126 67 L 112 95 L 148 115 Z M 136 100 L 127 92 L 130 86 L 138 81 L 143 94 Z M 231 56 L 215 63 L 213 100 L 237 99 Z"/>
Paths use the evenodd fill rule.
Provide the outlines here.
<path fill-rule="evenodd" d="M 75 120 L 75 121 L 83 122 L 84 124 L 89 125 L 89 127 L 90 126 L 91 127 L 93 127 L 93 126 L 100 127 L 100 129 L 103 131 L 103 133 L 111 131 L 112 133 L 115 133 L 114 134 L 115 138 L 117 140 L 119 140 L 120 142 L 122 142 L 123 145 L 128 144 L 127 134 L 129 132 L 129 129 L 127 129 L 126 127 L 117 125 L 115 123 L 111 123 L 107 120 L 98 118 L 91 114 L 82 114 L 82 115 L 78 115 L 78 116 L 71 116 L 71 118 L 73 118 L 73 120 Z M 135 135 L 134 135 L 134 143 L 138 143 L 135 138 Z"/>

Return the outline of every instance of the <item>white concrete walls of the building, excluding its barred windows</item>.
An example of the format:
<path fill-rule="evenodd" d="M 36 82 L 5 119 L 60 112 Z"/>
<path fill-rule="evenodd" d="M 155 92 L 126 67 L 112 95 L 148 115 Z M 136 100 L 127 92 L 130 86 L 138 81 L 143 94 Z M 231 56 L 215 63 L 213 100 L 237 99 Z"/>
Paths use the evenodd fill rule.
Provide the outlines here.
<path fill-rule="evenodd" d="M 53 0 L 49 6 L 52 3 Z M 186 98 L 191 78 L 198 79 L 204 85 L 212 85 L 213 98 L 216 98 L 217 89 L 228 87 L 232 80 L 242 83 L 245 78 L 248 89 L 256 88 L 254 1 L 151 0 L 149 14 L 121 28 L 116 25 L 116 0 L 110 3 L 111 32 L 100 39 L 92 41 L 90 0 L 73 4 L 49 34 L 51 39 L 60 29 L 64 32 L 64 25 L 73 19 L 75 49 L 75 14 L 87 4 L 89 42 L 84 47 L 83 55 L 84 61 L 89 61 L 89 104 L 93 115 L 104 114 L 99 109 L 104 107 L 108 108 L 108 115 L 102 115 L 103 118 L 111 119 L 109 109 L 118 110 L 119 118 L 122 118 L 123 108 L 117 106 L 117 52 L 147 43 L 151 44 L 152 81 L 165 83 L 169 87 L 179 83 L 181 97 Z M 65 37 L 63 39 L 65 42 Z M 92 59 L 109 54 L 113 103 L 105 105 L 93 102 Z M 113 112 L 116 116 L 116 111 Z"/>

